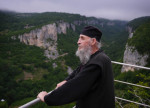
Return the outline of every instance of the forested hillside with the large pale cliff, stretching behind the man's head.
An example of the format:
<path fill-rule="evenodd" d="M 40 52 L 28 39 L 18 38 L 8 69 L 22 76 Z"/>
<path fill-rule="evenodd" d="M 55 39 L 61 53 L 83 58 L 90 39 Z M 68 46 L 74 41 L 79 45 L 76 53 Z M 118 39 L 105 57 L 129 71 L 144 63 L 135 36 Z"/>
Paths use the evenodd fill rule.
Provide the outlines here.
<path fill-rule="evenodd" d="M 101 29 L 102 49 L 115 61 L 122 61 L 128 36 L 125 21 L 79 14 L 1 11 L 0 19 L 0 99 L 14 107 L 42 90 L 54 89 L 68 75 L 68 69 L 78 66 L 75 51 L 84 26 Z"/>

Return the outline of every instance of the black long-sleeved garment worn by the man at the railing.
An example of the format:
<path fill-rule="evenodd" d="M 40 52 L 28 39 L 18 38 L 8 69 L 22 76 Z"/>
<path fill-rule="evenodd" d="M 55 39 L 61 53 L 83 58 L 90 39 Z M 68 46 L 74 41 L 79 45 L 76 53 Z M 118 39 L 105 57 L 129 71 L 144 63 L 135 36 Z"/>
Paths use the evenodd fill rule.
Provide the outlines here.
<path fill-rule="evenodd" d="M 66 80 L 64 85 L 44 97 L 48 105 L 77 101 L 77 108 L 115 108 L 111 61 L 101 50 Z"/>

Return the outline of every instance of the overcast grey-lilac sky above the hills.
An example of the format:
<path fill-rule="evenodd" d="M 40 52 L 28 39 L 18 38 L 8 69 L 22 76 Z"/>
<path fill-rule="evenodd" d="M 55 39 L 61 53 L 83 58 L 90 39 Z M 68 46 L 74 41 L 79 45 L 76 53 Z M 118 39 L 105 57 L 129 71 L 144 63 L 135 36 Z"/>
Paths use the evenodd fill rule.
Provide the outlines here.
<path fill-rule="evenodd" d="M 132 20 L 150 16 L 150 0 L 0 0 L 0 9 L 16 12 L 67 12 Z"/>

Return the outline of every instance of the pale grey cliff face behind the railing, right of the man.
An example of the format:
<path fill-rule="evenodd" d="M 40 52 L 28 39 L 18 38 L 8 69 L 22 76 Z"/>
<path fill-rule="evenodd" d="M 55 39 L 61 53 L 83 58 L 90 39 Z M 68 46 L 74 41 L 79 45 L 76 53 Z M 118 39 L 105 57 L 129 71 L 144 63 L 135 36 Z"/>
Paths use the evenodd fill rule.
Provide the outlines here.
<path fill-rule="evenodd" d="M 127 29 L 129 32 L 129 38 L 132 38 L 134 36 L 132 28 L 128 27 Z M 134 46 L 129 46 L 128 43 L 126 44 L 126 49 L 125 49 L 124 58 L 123 58 L 124 63 L 145 66 L 147 64 L 147 62 L 146 62 L 147 58 L 148 58 L 148 55 L 146 55 L 146 54 L 141 55 L 135 49 Z M 138 68 L 122 66 L 121 72 L 134 71 L 135 69 L 138 70 Z"/>

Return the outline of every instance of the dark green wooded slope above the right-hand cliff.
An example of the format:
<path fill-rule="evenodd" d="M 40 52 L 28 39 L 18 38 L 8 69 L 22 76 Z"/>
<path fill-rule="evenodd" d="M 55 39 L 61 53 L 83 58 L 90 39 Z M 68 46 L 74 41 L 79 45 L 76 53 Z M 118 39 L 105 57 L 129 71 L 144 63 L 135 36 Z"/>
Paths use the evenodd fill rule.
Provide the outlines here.
<path fill-rule="evenodd" d="M 128 40 L 128 44 L 134 46 L 140 54 L 150 56 L 150 17 L 135 19 L 129 22 L 129 25 L 135 29 L 133 29 L 133 37 Z M 150 64 L 150 58 L 147 61 Z"/>

